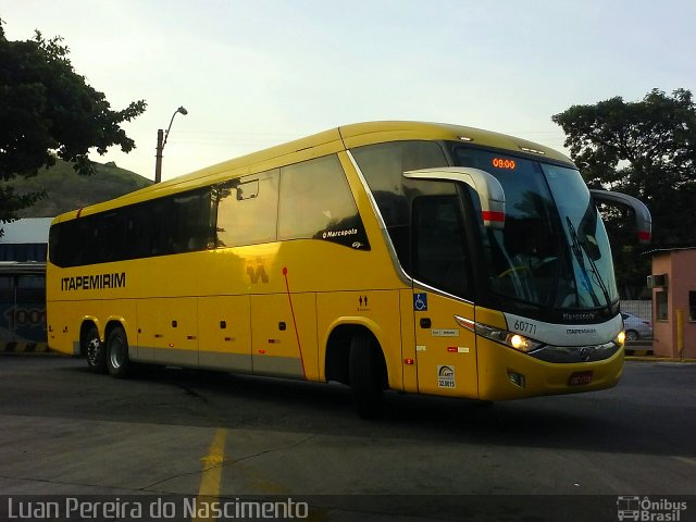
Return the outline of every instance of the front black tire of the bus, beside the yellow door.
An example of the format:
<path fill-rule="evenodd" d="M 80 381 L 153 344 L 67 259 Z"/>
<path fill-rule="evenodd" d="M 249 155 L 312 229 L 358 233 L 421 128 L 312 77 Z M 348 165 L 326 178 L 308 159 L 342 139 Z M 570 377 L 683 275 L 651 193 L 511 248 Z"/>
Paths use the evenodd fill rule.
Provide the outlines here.
<path fill-rule="evenodd" d="M 382 411 L 383 375 L 372 337 L 356 335 L 350 341 L 350 389 L 358 414 L 364 419 Z"/>

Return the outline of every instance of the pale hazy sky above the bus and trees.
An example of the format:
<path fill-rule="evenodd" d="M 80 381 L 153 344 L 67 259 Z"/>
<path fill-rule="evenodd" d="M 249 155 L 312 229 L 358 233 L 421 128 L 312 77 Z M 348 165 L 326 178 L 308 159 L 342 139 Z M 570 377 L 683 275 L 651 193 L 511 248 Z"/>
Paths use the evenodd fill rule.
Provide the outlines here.
<path fill-rule="evenodd" d="M 63 37 L 135 140 L 90 158 L 170 179 L 340 125 L 411 120 L 561 151 L 551 116 L 696 89 L 694 0 L 0 0 L 10 40 Z M 566 151 L 567 152 L 567 151 Z"/>

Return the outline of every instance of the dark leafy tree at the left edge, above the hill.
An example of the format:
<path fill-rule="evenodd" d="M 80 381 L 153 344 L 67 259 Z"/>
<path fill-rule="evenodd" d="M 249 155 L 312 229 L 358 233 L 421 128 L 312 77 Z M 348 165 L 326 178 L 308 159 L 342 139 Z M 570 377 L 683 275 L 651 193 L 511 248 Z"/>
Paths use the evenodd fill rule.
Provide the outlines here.
<path fill-rule="evenodd" d="M 91 174 L 90 149 L 111 146 L 129 152 L 135 142 L 121 123 L 140 115 L 144 100 L 112 111 L 104 94 L 87 85 L 67 58 L 62 38 L 9 41 L 0 20 L 0 223 L 13 221 L 41 192 L 20 195 L 11 182 L 36 175 L 60 158 L 79 174 Z"/>

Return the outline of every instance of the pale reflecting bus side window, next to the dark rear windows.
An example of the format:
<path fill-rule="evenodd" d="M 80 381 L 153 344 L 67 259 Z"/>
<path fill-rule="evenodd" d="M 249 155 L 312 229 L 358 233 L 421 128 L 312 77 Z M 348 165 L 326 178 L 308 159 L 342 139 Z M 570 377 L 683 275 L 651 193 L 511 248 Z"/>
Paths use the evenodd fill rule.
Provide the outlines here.
<path fill-rule="evenodd" d="M 277 169 L 220 185 L 214 195 L 219 247 L 276 240 Z"/>

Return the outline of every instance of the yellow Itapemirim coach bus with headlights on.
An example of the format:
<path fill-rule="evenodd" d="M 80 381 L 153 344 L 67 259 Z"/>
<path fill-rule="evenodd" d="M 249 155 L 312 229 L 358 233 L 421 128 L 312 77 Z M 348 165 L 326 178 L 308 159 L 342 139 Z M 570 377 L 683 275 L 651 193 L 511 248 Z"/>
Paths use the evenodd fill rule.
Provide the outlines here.
<path fill-rule="evenodd" d="M 483 401 L 613 386 L 622 320 L 563 154 L 432 123 L 347 125 L 58 216 L 49 345 L 137 363 Z"/>

